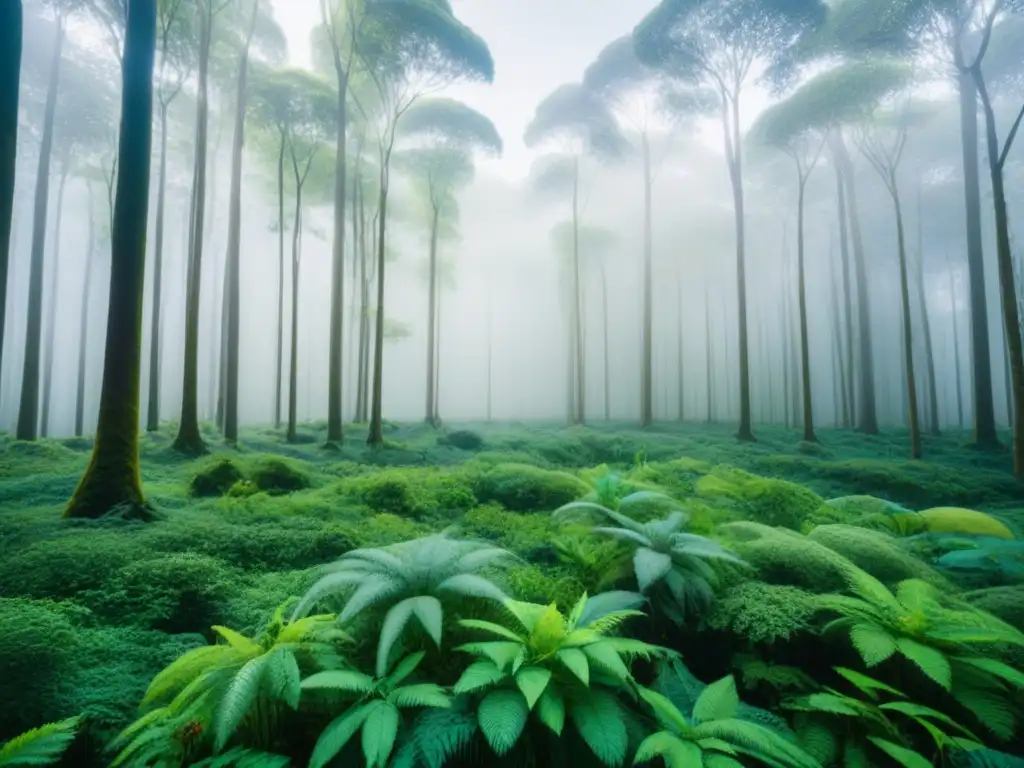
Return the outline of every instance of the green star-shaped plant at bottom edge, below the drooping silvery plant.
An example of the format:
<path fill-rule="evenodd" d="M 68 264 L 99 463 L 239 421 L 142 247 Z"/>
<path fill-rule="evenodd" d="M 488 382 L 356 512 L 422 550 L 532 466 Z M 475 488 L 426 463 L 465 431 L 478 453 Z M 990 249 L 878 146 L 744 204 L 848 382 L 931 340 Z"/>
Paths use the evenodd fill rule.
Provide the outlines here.
<path fill-rule="evenodd" d="M 384 768 L 394 751 L 402 710 L 451 707 L 449 695 L 437 685 L 402 685 L 423 656 L 423 651 L 408 655 L 389 674 L 377 678 L 353 670 L 327 670 L 303 680 L 302 690 L 337 691 L 355 697 L 321 733 L 309 759 L 310 768 L 328 765 L 357 731 L 362 732 L 362 755 L 368 768 Z"/>

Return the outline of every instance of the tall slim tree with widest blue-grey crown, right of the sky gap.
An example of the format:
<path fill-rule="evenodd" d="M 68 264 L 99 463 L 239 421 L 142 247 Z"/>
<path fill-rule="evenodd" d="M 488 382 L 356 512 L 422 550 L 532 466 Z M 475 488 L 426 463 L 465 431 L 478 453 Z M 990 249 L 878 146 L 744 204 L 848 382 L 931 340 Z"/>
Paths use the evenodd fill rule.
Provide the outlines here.
<path fill-rule="evenodd" d="M 746 243 L 740 96 L 755 65 L 780 68 L 797 35 L 824 13 L 820 0 L 662 0 L 633 32 L 637 56 L 668 77 L 718 94 L 736 227 L 739 323 L 739 431 L 754 440 L 746 327 Z"/>

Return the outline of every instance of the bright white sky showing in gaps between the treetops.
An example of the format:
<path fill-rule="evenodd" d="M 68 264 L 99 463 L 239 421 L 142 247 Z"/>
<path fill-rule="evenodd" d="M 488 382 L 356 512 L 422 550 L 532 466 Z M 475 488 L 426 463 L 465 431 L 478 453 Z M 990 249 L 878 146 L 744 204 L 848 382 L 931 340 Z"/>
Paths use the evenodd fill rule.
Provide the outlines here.
<path fill-rule="evenodd" d="M 308 67 L 318 0 L 272 2 L 292 62 Z M 502 134 L 504 157 L 483 162 L 502 176 L 525 176 L 534 156 L 522 133 L 538 102 L 562 83 L 580 80 L 598 52 L 632 32 L 654 5 L 655 0 L 454 0 L 460 20 L 487 42 L 495 58 L 494 84 L 446 91 L 489 117 Z"/>

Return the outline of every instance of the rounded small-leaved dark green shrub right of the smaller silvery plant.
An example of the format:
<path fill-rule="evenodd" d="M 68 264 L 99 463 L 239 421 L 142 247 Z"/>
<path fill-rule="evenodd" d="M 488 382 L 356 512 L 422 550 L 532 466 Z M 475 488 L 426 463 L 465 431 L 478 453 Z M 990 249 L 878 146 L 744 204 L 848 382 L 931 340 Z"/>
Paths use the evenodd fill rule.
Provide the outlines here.
<path fill-rule="evenodd" d="M 798 587 L 743 582 L 719 596 L 707 623 L 752 643 L 788 640 L 810 629 L 818 610 L 814 597 Z"/>

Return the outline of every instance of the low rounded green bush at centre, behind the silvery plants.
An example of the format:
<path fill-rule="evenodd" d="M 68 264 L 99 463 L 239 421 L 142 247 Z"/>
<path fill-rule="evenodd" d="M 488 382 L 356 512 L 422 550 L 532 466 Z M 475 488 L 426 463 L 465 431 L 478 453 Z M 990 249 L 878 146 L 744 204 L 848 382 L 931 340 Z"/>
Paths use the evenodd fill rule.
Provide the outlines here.
<path fill-rule="evenodd" d="M 473 490 L 480 502 L 497 502 L 515 512 L 551 512 L 589 488 L 567 472 L 499 464 L 476 475 Z"/>

